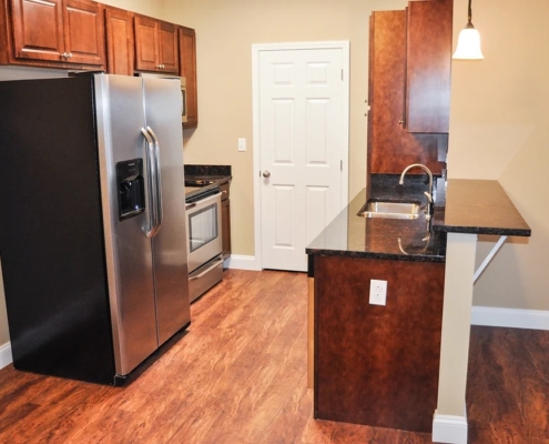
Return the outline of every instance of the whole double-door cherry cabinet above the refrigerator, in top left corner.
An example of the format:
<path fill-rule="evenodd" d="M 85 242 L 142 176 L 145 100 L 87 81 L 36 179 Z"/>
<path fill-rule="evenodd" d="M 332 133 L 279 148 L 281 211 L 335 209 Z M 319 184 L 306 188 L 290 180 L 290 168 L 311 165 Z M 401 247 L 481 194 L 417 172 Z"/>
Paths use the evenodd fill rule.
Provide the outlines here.
<path fill-rule="evenodd" d="M 1 63 L 104 69 L 102 4 L 91 0 L 3 0 L 2 3 Z"/>

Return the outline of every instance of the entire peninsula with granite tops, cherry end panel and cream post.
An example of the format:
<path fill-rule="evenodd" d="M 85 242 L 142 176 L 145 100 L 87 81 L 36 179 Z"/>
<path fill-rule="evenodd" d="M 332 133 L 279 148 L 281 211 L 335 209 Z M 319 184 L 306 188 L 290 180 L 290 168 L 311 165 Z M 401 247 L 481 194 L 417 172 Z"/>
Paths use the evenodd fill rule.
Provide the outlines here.
<path fill-rule="evenodd" d="M 423 189 L 411 191 L 360 191 L 306 249 L 315 417 L 428 426 L 436 442 L 466 443 L 474 281 L 507 235 L 531 232 L 491 180 L 448 180 L 430 222 L 357 215 L 368 199 L 408 201 Z M 502 238 L 475 273 L 477 234 Z M 383 304 L 372 280 L 388 283 Z"/>

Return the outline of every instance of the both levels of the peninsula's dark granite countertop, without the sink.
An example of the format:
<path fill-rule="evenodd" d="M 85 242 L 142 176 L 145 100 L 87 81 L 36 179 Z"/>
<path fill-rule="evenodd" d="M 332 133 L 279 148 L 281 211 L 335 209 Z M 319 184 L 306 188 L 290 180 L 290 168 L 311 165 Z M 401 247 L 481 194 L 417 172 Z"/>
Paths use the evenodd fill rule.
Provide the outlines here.
<path fill-rule="evenodd" d="M 306 249 L 309 255 L 445 262 L 446 235 L 454 233 L 531 235 L 530 228 L 501 185 L 494 180 L 450 179 L 446 206 L 435 206 L 430 234 L 425 214 L 416 220 L 365 219 L 357 213 L 368 199 L 419 200 L 420 180 L 408 186 L 380 183 L 363 189 Z"/>

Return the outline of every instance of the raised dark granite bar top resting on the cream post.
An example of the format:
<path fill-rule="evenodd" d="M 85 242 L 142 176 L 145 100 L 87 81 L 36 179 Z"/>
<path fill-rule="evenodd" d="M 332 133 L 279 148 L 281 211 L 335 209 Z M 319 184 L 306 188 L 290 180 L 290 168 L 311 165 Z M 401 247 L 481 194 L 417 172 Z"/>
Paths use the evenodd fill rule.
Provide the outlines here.
<path fill-rule="evenodd" d="M 434 232 L 529 236 L 531 230 L 498 181 L 450 179 L 446 211 L 437 212 Z"/>

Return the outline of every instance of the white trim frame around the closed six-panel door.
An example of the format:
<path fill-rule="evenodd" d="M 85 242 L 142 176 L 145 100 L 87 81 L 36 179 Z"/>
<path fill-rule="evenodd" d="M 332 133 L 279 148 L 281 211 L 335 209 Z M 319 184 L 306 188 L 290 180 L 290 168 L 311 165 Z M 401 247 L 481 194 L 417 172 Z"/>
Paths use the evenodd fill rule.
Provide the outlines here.
<path fill-rule="evenodd" d="M 342 49 L 343 56 L 343 131 L 344 147 L 342 152 L 342 210 L 348 204 L 349 194 L 349 42 L 293 42 L 293 43 L 257 43 L 252 44 L 252 100 L 253 100 L 253 155 L 254 155 L 254 243 L 255 243 L 255 270 L 263 269 L 262 253 L 262 185 L 261 185 L 261 143 L 260 143 L 260 52 L 281 50 L 306 50 L 306 49 Z M 346 148 L 346 149 L 345 149 Z M 366 148 L 365 148 L 366 149 Z"/>

